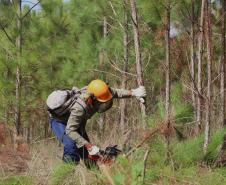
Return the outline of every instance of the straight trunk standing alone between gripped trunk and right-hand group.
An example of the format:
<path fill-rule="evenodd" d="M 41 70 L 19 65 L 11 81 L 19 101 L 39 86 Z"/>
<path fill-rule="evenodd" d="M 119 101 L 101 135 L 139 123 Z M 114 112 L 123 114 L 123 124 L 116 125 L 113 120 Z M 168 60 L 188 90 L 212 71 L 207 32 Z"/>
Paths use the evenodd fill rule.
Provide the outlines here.
<path fill-rule="evenodd" d="M 166 30 L 165 30 L 165 41 L 166 41 L 166 99 L 165 99 L 165 110 L 166 110 L 166 124 L 167 129 L 170 129 L 170 113 L 171 113 L 171 99 L 170 99 L 170 9 L 171 1 L 166 1 Z M 169 136 L 166 136 L 167 142 L 167 160 L 169 159 Z"/>

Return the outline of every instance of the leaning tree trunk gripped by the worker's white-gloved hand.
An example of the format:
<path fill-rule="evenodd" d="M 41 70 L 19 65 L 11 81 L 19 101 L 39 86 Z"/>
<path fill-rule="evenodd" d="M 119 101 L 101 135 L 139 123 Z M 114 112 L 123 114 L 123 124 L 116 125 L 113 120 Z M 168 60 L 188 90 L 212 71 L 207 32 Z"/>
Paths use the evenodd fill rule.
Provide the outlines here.
<path fill-rule="evenodd" d="M 137 83 L 138 85 L 144 85 L 143 73 L 142 73 L 142 61 L 141 61 L 141 51 L 140 51 L 140 34 L 139 34 L 139 24 L 137 18 L 136 4 L 134 0 L 130 0 L 131 5 L 131 14 L 133 21 L 133 32 L 134 32 L 134 46 L 136 54 L 136 72 L 137 72 Z M 143 127 L 146 127 L 145 115 L 146 115 L 146 106 L 144 103 L 140 102 L 141 115 L 142 115 L 142 124 Z"/>

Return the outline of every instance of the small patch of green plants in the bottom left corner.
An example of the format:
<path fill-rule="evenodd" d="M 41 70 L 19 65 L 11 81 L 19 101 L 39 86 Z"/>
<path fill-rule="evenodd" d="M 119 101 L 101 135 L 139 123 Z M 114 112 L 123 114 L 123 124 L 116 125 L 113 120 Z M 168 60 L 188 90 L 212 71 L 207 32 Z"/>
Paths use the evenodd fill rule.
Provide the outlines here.
<path fill-rule="evenodd" d="M 2 178 L 0 180 L 0 185 L 31 185 L 33 180 L 28 176 L 10 176 Z"/>

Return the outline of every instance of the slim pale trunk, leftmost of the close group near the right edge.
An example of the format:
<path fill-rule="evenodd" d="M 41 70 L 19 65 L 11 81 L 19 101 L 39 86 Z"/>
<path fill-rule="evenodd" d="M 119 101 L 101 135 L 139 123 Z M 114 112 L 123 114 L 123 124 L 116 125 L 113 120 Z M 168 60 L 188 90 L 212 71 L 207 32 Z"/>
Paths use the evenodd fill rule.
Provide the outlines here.
<path fill-rule="evenodd" d="M 192 0 L 192 5 L 191 5 L 191 87 L 192 87 L 192 91 L 191 91 L 191 96 L 192 96 L 192 105 L 194 108 L 194 118 L 196 120 L 196 99 L 195 99 L 195 31 L 194 31 L 194 27 L 195 27 L 195 2 L 194 0 Z"/>

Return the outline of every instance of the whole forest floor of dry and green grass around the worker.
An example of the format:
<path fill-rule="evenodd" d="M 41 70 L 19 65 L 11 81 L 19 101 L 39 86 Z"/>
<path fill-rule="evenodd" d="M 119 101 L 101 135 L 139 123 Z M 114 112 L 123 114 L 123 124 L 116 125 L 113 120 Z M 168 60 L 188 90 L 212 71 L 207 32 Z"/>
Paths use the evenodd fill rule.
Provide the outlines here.
<path fill-rule="evenodd" d="M 16 152 L 4 146 L 0 147 L 0 185 L 226 185 L 226 167 L 208 165 L 223 134 L 216 132 L 207 155 L 202 154 L 202 137 L 172 139 L 168 162 L 164 140 L 156 136 L 129 158 L 120 155 L 111 167 L 99 170 L 63 163 L 63 147 L 55 140 L 31 144 L 29 152 L 26 146 Z"/>

